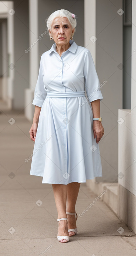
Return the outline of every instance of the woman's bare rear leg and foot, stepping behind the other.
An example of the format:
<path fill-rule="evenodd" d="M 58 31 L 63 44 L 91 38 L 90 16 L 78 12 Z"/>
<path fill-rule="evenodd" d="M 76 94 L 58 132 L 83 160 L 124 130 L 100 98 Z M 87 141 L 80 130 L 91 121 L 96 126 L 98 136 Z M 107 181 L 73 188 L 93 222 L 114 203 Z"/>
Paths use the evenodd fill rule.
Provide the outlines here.
<path fill-rule="evenodd" d="M 75 212 L 75 204 L 77 202 L 77 197 L 80 188 L 79 182 L 71 182 L 67 184 L 67 205 L 66 205 L 66 212 Z M 67 214 L 67 221 L 68 221 L 68 229 L 77 228 L 75 215 Z M 74 232 L 69 232 L 69 236 L 75 235 Z"/>

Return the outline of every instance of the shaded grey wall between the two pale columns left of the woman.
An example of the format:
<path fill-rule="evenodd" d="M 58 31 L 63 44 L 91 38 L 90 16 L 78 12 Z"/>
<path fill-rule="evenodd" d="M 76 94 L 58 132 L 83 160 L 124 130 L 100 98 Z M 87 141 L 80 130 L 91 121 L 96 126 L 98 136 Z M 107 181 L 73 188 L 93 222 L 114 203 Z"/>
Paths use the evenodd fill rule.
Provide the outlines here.
<path fill-rule="evenodd" d="M 25 89 L 29 88 L 29 6 L 28 0 L 18 3 L 14 0 L 14 51 L 15 80 L 13 91 L 13 108 L 24 109 Z"/>

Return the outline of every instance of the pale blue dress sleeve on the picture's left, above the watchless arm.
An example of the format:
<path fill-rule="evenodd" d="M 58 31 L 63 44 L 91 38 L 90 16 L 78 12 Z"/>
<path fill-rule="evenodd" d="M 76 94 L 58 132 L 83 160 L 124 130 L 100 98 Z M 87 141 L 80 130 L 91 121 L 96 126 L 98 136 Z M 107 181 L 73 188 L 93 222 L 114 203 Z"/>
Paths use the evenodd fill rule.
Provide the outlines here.
<path fill-rule="evenodd" d="M 39 75 L 38 75 L 37 83 L 35 86 L 34 99 L 32 104 L 38 107 L 42 107 L 42 104 L 46 98 L 46 95 L 47 95 L 47 92 L 45 91 L 45 86 L 43 82 L 43 62 L 42 62 L 42 55 L 41 55 Z"/>

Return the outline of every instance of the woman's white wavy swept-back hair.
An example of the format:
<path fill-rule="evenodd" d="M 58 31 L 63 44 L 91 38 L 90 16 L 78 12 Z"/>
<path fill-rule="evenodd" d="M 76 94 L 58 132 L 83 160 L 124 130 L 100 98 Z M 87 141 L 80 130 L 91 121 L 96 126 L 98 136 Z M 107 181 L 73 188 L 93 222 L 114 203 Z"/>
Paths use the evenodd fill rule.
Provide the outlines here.
<path fill-rule="evenodd" d="M 74 14 L 74 16 L 76 17 L 76 15 Z M 54 13 L 52 13 L 49 17 L 47 17 L 47 19 L 45 20 L 46 21 L 46 25 L 47 25 L 47 28 L 51 30 L 51 27 L 52 27 L 52 24 L 53 24 L 53 21 L 55 18 L 58 18 L 58 17 L 66 17 L 71 26 L 72 26 L 72 30 L 73 28 L 75 28 L 77 26 L 77 21 L 76 21 L 76 18 L 73 18 L 72 17 L 72 13 L 69 12 L 68 10 L 65 10 L 65 9 L 61 9 L 61 10 L 57 10 L 55 11 Z M 76 30 L 76 29 L 75 29 Z M 75 32 L 74 30 L 74 32 Z M 74 35 L 74 33 L 72 34 L 72 36 Z"/>

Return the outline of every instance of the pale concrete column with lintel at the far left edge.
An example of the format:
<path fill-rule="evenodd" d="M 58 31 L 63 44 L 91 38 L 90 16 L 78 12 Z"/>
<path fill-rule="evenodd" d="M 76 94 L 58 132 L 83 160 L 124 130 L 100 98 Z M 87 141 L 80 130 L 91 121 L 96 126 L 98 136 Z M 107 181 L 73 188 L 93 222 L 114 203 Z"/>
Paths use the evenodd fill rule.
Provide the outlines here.
<path fill-rule="evenodd" d="M 1 95 L 9 108 L 13 105 L 14 69 L 9 65 L 14 63 L 14 15 L 9 11 L 13 9 L 13 1 L 0 2 L 0 18 L 6 20 L 1 24 L 2 33 L 2 78 Z"/>

